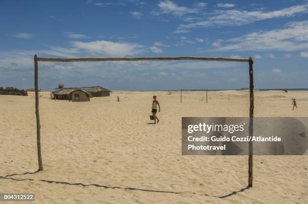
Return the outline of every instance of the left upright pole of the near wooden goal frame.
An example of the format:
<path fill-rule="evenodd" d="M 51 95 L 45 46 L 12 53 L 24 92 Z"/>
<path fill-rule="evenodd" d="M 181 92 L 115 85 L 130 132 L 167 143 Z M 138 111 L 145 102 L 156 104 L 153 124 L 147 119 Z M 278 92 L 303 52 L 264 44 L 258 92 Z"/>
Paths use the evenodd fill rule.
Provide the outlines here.
<path fill-rule="evenodd" d="M 41 154 L 41 124 L 39 114 L 39 96 L 38 96 L 38 64 L 37 55 L 34 56 L 34 88 L 35 88 L 35 115 L 36 115 L 36 140 L 37 140 L 37 157 L 39 163 L 39 171 L 43 170 L 42 154 Z"/>

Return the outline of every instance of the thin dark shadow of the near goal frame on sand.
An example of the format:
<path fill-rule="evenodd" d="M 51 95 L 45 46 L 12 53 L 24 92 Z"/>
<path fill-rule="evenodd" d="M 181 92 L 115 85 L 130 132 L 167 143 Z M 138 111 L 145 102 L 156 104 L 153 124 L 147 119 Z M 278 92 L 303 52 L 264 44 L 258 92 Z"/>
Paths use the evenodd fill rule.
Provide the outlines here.
<path fill-rule="evenodd" d="M 41 181 L 41 182 L 47 182 L 47 183 L 55 183 L 55 184 L 64 184 L 64 185 L 81 185 L 83 187 L 87 187 L 87 186 L 95 186 L 95 187 L 102 187 L 102 188 L 111 188 L 111 189 L 122 189 L 122 190 L 139 190 L 139 191 L 146 191 L 146 192 L 161 192 L 161 193 L 175 193 L 175 194 L 189 194 L 186 192 L 175 192 L 175 191 L 165 191 L 165 190 L 150 190 L 150 189 L 142 189 L 142 188 L 134 188 L 134 187 L 119 187 L 119 186 L 107 186 L 107 185 L 100 185 L 100 184 L 84 184 L 84 183 L 69 183 L 69 182 L 64 182 L 64 181 L 52 181 L 52 180 L 34 180 L 32 178 L 24 178 L 24 179 L 18 179 L 18 178 L 11 178 L 11 176 L 15 176 L 15 175 L 26 175 L 26 174 L 35 174 L 39 172 L 39 170 L 34 171 L 34 172 L 25 172 L 22 174 L 10 174 L 10 175 L 6 175 L 6 176 L 0 176 L 0 179 L 11 179 L 11 180 L 15 180 L 15 181 L 24 181 L 24 180 L 30 180 L 30 181 Z M 232 193 L 226 194 L 226 195 L 221 195 L 221 196 L 215 196 L 215 195 L 209 195 L 209 194 L 200 194 L 200 195 L 204 195 L 204 196 L 211 196 L 211 197 L 217 197 L 217 198 L 226 198 L 232 195 L 237 194 L 238 192 L 243 192 L 244 190 L 249 189 L 249 186 L 242 188 L 238 191 L 233 191 Z M 192 194 L 196 194 L 196 193 L 192 193 Z"/>

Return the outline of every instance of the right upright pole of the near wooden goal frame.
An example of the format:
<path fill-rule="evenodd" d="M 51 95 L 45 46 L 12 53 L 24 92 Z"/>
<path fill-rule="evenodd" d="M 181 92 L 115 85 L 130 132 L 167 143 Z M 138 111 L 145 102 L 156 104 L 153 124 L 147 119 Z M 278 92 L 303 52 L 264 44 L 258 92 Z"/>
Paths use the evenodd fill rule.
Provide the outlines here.
<path fill-rule="evenodd" d="M 249 58 L 249 137 L 254 134 L 254 70 L 253 70 L 253 59 Z M 253 143 L 249 142 L 249 155 L 248 155 L 248 186 L 253 186 Z"/>

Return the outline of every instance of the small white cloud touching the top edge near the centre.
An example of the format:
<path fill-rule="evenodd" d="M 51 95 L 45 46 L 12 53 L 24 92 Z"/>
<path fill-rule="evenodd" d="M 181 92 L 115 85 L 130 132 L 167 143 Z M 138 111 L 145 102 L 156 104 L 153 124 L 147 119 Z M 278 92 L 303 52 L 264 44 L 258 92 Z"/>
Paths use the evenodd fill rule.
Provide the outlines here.
<path fill-rule="evenodd" d="M 177 4 L 171 1 L 160 2 L 158 4 L 159 8 L 161 9 L 162 13 L 165 14 L 173 14 L 175 16 L 183 16 L 185 14 L 197 13 L 197 9 L 190 9 L 187 7 L 179 7 Z"/>

